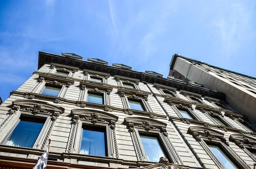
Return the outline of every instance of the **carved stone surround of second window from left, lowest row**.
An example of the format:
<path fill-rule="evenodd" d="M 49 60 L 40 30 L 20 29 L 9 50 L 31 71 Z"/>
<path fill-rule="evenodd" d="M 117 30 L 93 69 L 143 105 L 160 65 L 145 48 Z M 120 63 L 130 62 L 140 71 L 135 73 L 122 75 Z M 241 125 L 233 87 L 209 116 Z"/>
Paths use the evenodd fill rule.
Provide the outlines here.
<path fill-rule="evenodd" d="M 79 154 L 82 126 L 99 127 L 106 131 L 107 157 L 119 158 L 115 131 L 117 116 L 89 109 L 71 110 L 71 114 L 73 115 L 73 122 L 66 152 Z"/>

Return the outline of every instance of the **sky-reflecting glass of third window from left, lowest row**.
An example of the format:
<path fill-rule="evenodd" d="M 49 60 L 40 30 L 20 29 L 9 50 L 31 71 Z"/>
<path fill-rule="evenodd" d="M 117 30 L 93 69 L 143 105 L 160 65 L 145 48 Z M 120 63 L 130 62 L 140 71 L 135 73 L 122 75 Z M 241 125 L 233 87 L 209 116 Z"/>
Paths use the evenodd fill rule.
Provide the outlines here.
<path fill-rule="evenodd" d="M 166 157 L 156 137 L 140 135 L 148 161 L 159 162 L 160 157 Z"/>

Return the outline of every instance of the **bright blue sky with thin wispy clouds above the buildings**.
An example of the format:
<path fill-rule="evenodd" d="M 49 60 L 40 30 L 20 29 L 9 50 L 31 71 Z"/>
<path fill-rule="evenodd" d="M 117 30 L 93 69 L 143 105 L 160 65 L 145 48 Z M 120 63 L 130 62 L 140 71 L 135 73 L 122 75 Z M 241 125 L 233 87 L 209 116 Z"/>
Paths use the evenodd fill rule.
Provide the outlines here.
<path fill-rule="evenodd" d="M 173 54 L 256 77 L 255 0 L 1 0 L 0 96 L 70 52 L 166 77 Z"/>

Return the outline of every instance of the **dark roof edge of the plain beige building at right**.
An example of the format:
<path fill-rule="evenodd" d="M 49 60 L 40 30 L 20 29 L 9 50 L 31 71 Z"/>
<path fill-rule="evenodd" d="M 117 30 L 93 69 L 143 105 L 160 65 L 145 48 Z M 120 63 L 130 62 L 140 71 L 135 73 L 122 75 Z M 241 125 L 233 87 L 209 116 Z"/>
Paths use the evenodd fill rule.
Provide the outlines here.
<path fill-rule="evenodd" d="M 256 79 L 255 77 L 252 77 L 252 76 L 248 76 L 248 75 L 245 75 L 245 74 L 242 74 L 242 73 L 237 73 L 237 72 L 234 72 L 234 71 L 232 71 L 232 70 L 227 70 L 227 69 L 224 69 L 224 68 L 219 68 L 219 67 L 217 67 L 217 66 L 209 65 L 208 63 L 200 62 L 200 61 L 198 61 L 198 60 L 190 59 L 190 58 L 188 58 L 188 57 L 181 56 L 181 55 L 178 55 L 178 54 L 174 54 L 174 55 L 172 56 L 172 60 L 171 60 L 171 63 L 170 63 L 170 70 L 173 69 L 177 57 L 181 57 L 181 58 L 183 58 L 183 59 L 187 59 L 187 60 L 190 60 L 190 61 L 193 61 L 193 62 L 197 62 L 197 63 L 200 63 L 200 64 L 204 64 L 204 65 L 210 66 L 210 67 L 212 67 L 212 68 L 216 68 L 216 69 L 220 69 L 220 70 L 225 70 L 225 71 L 230 72 L 230 73 L 235 73 L 235 74 L 238 74 L 238 75 L 241 75 L 241 76 L 249 77 L 249 78 L 251 78 L 251 79 Z"/>

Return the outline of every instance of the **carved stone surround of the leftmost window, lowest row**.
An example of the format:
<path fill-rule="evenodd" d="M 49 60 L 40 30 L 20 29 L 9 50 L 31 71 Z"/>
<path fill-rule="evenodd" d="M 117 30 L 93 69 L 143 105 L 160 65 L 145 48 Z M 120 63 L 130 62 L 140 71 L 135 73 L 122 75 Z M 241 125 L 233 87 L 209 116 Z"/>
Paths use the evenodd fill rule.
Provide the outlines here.
<path fill-rule="evenodd" d="M 13 130 L 20 116 L 45 119 L 46 121 L 32 147 L 34 149 L 44 149 L 48 143 L 52 128 L 55 126 L 55 121 L 64 112 L 64 109 L 44 101 L 16 100 L 13 101 L 12 105 L 12 108 L 0 123 L 0 135 L 4 136 Z M 5 138 L 6 136 L 1 137 L 0 139 L 2 140 L 0 142 Z"/>

